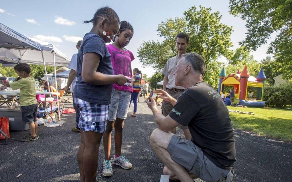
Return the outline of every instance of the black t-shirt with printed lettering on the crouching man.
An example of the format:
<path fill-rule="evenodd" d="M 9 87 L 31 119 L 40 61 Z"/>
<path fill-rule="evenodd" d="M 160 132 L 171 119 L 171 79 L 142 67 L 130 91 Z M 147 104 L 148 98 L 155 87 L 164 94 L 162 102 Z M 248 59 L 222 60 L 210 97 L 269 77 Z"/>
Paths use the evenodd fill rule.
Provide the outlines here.
<path fill-rule="evenodd" d="M 206 82 L 186 89 L 169 116 L 189 127 L 192 142 L 216 166 L 232 168 L 236 161 L 234 132 L 228 109 L 215 89 Z"/>

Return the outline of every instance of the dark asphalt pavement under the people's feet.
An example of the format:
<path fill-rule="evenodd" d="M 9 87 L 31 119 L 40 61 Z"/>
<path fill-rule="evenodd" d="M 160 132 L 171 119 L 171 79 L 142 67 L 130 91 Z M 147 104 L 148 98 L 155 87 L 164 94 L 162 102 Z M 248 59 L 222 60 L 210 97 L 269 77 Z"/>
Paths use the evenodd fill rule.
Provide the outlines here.
<path fill-rule="evenodd" d="M 72 105 L 65 103 L 65 107 Z M 158 106 L 160 107 L 160 106 Z M 129 113 L 133 112 L 133 104 Z M 0 141 L 0 181 L 13 182 L 77 182 L 80 181 L 77 164 L 80 133 L 72 132 L 75 113 L 63 114 L 62 126 L 39 126 L 40 139 L 21 142 L 27 131 L 11 131 L 8 145 Z M 291 121 L 292 122 L 292 121 Z M 163 164 L 155 156 L 149 138 L 157 125 L 146 103 L 138 103 L 137 117 L 126 119 L 123 131 L 122 155 L 133 164 L 132 169 L 113 165 L 111 177 L 102 176 L 104 160 L 100 145 L 97 181 L 106 182 L 159 182 Z M 292 142 L 255 135 L 235 129 L 236 158 L 234 182 L 292 181 Z M 178 130 L 178 134 L 182 134 Z M 112 133 L 112 155 L 114 154 Z M 22 174 L 16 178 L 18 174 Z M 201 181 L 197 179 L 196 181 Z"/>

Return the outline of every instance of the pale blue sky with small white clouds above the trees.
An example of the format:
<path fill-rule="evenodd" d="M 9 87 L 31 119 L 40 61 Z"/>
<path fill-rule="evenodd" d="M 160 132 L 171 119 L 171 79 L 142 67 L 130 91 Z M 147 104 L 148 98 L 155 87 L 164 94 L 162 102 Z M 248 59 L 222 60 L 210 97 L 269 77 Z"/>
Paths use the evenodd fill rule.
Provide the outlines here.
<path fill-rule="evenodd" d="M 135 60 L 132 68 L 141 68 L 142 73 L 151 76 L 152 68 L 142 68 L 138 62 L 137 49 L 143 41 L 162 40 L 156 32 L 157 25 L 173 17 L 182 17 L 183 12 L 192 6 L 211 7 L 212 11 L 219 11 L 221 22 L 233 27 L 231 40 L 232 49 L 239 47 L 238 42 L 243 40 L 246 33 L 245 22 L 239 17 L 229 14 L 229 1 L 215 0 L 181 0 L 181 1 L 1 1 L 0 22 L 22 33 L 23 35 L 55 45 L 60 51 L 71 58 L 77 52 L 75 47 L 79 37 L 90 31 L 92 24 L 83 24 L 83 20 L 91 20 L 95 11 L 103 6 L 113 8 L 120 20 L 126 20 L 134 28 L 134 36 L 126 47 L 132 51 Z M 274 37 L 274 36 L 272 36 Z M 270 41 L 268 41 L 270 43 Z M 268 44 L 262 45 L 252 52 L 256 60 L 265 58 Z M 225 58 L 219 58 L 225 61 Z"/>

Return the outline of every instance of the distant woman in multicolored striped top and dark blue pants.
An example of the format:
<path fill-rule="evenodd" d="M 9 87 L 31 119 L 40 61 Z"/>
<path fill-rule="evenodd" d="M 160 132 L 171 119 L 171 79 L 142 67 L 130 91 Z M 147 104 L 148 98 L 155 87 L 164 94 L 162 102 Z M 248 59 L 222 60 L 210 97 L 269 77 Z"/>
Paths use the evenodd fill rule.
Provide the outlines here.
<path fill-rule="evenodd" d="M 133 79 L 135 79 L 134 84 L 133 84 L 133 93 L 131 96 L 131 102 L 133 100 L 134 103 L 134 112 L 130 116 L 136 117 L 136 112 L 137 112 L 137 98 L 140 97 L 140 91 L 141 91 L 141 77 L 140 75 L 141 71 L 138 68 L 134 68 L 133 70 Z"/>

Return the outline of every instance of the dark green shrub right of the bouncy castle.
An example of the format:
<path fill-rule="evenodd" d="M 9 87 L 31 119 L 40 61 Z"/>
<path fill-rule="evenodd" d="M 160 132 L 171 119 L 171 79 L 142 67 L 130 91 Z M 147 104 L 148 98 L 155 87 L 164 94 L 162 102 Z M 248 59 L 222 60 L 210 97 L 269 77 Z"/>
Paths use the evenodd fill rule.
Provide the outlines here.
<path fill-rule="evenodd" d="M 292 83 L 278 87 L 267 86 L 264 89 L 264 101 L 266 106 L 285 108 L 292 105 Z"/>

